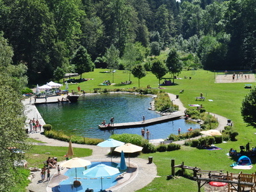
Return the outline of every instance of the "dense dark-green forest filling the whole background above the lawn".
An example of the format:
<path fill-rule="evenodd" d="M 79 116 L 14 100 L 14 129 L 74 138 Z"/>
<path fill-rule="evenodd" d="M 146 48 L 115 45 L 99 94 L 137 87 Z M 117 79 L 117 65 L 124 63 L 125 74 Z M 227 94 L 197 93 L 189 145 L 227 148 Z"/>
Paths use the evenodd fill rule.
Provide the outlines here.
<path fill-rule="evenodd" d="M 171 47 L 190 56 L 188 68 L 243 70 L 256 67 L 255 10 L 254 0 L 0 0 L 0 31 L 29 83 L 94 67 L 131 71 Z M 72 63 L 78 49 L 89 67 Z"/>

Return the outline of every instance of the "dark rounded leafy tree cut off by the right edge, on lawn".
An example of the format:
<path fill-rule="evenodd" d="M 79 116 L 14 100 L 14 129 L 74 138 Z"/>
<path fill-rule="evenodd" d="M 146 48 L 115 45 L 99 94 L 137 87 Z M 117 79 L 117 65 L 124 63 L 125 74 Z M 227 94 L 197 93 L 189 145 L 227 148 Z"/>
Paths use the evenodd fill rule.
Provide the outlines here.
<path fill-rule="evenodd" d="M 256 127 L 256 88 L 250 90 L 242 102 L 241 114 L 246 124 Z"/>

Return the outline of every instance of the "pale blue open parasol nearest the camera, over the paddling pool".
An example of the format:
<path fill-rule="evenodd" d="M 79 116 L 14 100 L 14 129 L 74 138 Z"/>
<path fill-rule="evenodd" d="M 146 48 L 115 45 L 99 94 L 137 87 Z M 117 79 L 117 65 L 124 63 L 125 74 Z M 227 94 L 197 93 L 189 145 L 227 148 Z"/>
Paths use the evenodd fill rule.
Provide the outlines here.
<path fill-rule="evenodd" d="M 98 164 L 97 166 L 93 166 L 92 168 L 83 171 L 83 174 L 89 177 L 100 177 L 101 180 L 101 190 L 102 186 L 102 177 L 108 177 L 112 175 L 116 175 L 120 173 L 118 168 L 114 168 L 112 166 L 108 166 L 106 164 Z"/>

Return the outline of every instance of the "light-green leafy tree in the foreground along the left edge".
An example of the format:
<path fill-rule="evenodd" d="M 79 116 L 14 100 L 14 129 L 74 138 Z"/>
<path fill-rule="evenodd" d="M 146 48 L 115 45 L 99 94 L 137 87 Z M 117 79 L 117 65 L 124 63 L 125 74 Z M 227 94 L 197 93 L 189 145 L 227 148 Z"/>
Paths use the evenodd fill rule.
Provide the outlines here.
<path fill-rule="evenodd" d="M 12 66 L 13 51 L 0 34 L 0 191 L 12 191 L 19 182 L 19 173 L 13 165 L 24 158 L 24 154 L 13 153 L 9 147 L 28 149 L 26 143 L 24 106 L 21 89 L 27 83 L 24 65 Z"/>

